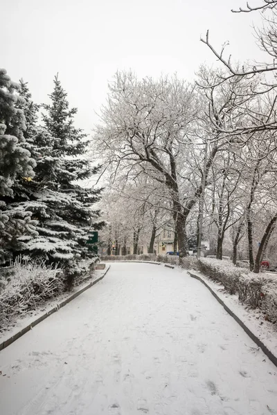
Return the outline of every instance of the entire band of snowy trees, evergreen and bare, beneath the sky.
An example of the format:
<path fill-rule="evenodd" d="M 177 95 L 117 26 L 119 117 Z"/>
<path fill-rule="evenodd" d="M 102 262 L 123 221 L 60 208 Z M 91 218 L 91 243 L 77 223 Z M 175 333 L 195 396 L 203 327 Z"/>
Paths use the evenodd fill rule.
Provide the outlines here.
<path fill-rule="evenodd" d="M 44 104 L 1 69 L 2 297 L 14 266 L 45 271 L 29 297 L 78 284 L 97 259 L 94 231 L 107 256 L 166 255 L 166 235 L 180 264 L 208 241 L 218 260 L 277 266 L 276 5 L 233 10 L 262 13 L 265 62 L 236 62 L 207 32 L 213 66 L 193 81 L 118 71 L 92 132 L 74 126 L 62 76 Z"/>

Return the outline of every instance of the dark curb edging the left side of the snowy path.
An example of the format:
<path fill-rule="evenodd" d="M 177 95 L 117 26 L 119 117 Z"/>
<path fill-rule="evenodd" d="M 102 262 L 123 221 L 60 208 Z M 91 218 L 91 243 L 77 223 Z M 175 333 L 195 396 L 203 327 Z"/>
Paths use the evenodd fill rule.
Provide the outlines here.
<path fill-rule="evenodd" d="M 55 307 L 51 308 L 51 310 L 47 311 L 47 313 L 44 313 L 43 315 L 38 317 L 35 321 L 28 324 L 28 326 L 24 327 L 24 329 L 21 329 L 18 333 L 12 335 L 12 337 L 10 337 L 8 340 L 5 340 L 4 342 L 2 342 L 0 344 L 0 351 L 3 349 L 6 349 L 6 347 L 10 346 L 10 344 L 15 342 L 15 340 L 21 338 L 22 335 L 24 335 L 25 333 L 28 333 L 28 331 L 33 329 L 33 327 L 35 327 L 37 324 L 39 324 L 40 322 L 45 320 L 47 317 L 49 317 L 49 315 L 55 313 L 56 311 L 59 311 L 60 308 L 66 306 L 66 304 L 71 302 L 74 298 L 78 297 L 80 294 L 84 293 L 84 291 L 87 291 L 93 285 L 101 281 L 101 279 L 103 279 L 105 275 L 107 274 L 109 268 L 110 267 L 108 266 L 106 272 L 101 277 L 99 277 L 98 279 L 95 279 L 94 281 L 90 282 L 89 285 L 84 286 L 80 291 L 77 291 L 76 293 L 72 294 L 70 297 L 64 299 L 64 301 L 62 301 L 60 304 L 57 304 Z"/>

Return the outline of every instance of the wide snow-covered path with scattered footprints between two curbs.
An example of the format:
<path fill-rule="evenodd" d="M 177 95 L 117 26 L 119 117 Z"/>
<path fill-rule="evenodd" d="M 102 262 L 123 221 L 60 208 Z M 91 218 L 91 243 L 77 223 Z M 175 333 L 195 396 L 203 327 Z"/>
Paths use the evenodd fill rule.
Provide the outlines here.
<path fill-rule="evenodd" d="M 151 264 L 111 264 L 0 370 L 3 415 L 277 414 L 274 365 L 200 282 Z"/>

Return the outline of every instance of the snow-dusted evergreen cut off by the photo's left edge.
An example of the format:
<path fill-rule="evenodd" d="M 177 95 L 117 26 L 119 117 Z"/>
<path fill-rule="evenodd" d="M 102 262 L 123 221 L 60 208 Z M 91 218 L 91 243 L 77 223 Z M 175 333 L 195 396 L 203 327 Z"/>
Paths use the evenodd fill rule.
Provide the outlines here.
<path fill-rule="evenodd" d="M 20 246 L 21 234 L 35 234 L 31 212 L 15 203 L 17 182 L 34 176 L 35 160 L 26 148 L 26 118 L 17 107 L 19 85 L 0 69 L 0 264 Z"/>

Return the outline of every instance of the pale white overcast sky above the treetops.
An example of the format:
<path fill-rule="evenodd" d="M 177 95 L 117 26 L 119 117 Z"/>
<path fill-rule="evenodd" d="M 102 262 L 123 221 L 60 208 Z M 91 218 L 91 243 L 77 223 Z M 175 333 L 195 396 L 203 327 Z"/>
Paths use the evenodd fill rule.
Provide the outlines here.
<path fill-rule="evenodd" d="M 59 72 L 71 107 L 78 107 L 76 124 L 90 132 L 118 69 L 132 69 L 139 77 L 176 72 L 193 80 L 199 64 L 215 64 L 199 42 L 207 29 L 217 49 L 230 42 L 235 59 L 262 59 L 251 28 L 260 26 L 260 15 L 230 11 L 245 2 L 2 0 L 0 66 L 12 80 L 28 81 L 37 103 L 46 102 Z"/>

